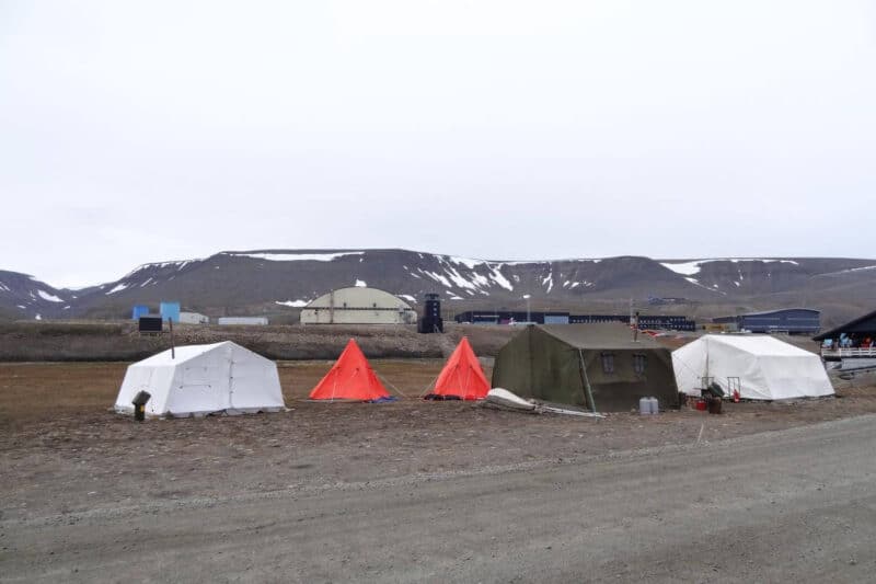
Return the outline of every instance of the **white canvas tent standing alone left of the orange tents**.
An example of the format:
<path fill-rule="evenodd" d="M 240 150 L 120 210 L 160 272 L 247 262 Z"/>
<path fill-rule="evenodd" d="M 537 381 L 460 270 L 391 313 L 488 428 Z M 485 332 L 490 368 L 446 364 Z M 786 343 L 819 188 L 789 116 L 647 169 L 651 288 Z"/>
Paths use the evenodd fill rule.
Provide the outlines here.
<path fill-rule="evenodd" d="M 279 411 L 284 406 L 277 366 L 230 341 L 164 351 L 128 367 L 115 409 L 132 413 L 131 400 L 151 393 L 152 416 Z"/>

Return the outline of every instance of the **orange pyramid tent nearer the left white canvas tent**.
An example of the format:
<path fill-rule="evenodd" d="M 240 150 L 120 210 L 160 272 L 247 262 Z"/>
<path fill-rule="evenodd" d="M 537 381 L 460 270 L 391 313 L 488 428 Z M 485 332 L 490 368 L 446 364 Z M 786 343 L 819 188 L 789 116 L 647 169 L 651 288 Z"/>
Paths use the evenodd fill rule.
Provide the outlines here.
<path fill-rule="evenodd" d="M 378 400 L 389 398 L 356 341 L 349 340 L 332 369 L 310 392 L 312 400 Z"/>

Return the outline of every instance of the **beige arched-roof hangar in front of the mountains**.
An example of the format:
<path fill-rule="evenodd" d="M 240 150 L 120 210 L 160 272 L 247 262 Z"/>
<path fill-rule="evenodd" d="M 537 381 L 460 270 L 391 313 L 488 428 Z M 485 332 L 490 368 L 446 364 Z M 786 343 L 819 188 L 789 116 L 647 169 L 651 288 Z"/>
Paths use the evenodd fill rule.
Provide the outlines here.
<path fill-rule="evenodd" d="M 416 324 L 407 302 L 377 288 L 332 290 L 301 309 L 301 324 Z"/>

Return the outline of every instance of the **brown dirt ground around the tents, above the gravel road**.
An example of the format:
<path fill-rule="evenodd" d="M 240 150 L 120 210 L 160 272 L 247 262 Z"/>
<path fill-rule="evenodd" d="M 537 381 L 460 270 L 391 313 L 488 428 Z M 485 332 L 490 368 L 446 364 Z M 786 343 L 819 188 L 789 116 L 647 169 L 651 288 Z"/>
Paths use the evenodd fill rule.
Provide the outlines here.
<path fill-rule="evenodd" d="M 372 362 L 394 403 L 303 401 L 330 365 L 279 364 L 284 413 L 137 423 L 111 411 L 124 364 L 2 364 L 0 519 L 575 460 L 876 412 L 876 387 L 852 383 L 835 399 L 599 421 L 418 399 L 440 359 Z"/>

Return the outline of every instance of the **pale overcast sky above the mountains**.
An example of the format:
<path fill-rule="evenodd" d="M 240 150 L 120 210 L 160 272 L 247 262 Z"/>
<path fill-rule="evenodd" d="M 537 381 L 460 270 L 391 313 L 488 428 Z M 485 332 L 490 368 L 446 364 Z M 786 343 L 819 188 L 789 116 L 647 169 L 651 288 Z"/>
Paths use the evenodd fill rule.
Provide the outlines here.
<path fill-rule="evenodd" d="M 0 268 L 876 256 L 876 3 L 0 0 Z"/>

